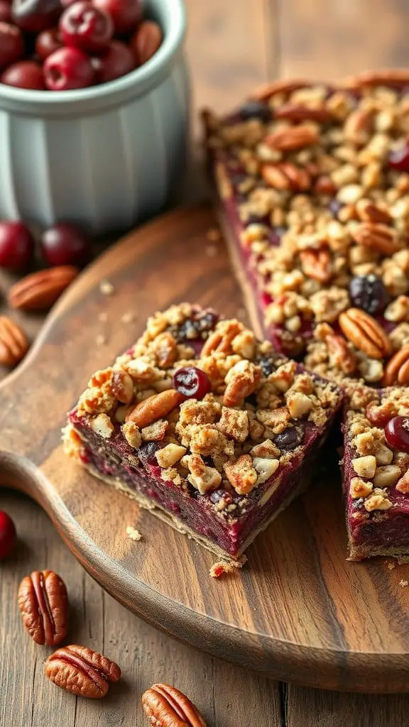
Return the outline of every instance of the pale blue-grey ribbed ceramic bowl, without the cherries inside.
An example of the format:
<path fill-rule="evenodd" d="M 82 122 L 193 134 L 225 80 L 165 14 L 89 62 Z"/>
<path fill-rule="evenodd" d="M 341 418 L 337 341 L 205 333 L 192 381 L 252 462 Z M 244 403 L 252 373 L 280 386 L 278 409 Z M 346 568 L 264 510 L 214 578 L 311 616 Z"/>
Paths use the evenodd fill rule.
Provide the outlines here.
<path fill-rule="evenodd" d="M 188 146 L 183 0 L 147 0 L 146 14 L 164 41 L 121 79 L 65 92 L 0 84 L 0 217 L 106 233 L 164 206 Z"/>

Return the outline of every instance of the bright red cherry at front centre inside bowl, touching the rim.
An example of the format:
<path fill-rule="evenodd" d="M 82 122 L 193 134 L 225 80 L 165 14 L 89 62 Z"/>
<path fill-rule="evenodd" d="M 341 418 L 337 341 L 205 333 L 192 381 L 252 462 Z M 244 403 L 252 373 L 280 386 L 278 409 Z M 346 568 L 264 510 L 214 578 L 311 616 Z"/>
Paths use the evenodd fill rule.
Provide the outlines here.
<path fill-rule="evenodd" d="M 92 86 L 94 69 L 79 48 L 59 48 L 44 61 L 44 79 L 50 91 L 67 91 Z"/>

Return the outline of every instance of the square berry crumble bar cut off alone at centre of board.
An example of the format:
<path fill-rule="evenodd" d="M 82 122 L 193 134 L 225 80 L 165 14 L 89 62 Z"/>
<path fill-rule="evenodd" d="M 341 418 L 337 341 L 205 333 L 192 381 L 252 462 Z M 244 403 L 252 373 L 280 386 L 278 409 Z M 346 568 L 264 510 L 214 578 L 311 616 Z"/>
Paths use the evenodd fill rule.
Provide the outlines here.
<path fill-rule="evenodd" d="M 343 395 L 236 320 L 183 303 L 97 371 L 65 451 L 217 555 L 237 560 L 306 486 Z"/>

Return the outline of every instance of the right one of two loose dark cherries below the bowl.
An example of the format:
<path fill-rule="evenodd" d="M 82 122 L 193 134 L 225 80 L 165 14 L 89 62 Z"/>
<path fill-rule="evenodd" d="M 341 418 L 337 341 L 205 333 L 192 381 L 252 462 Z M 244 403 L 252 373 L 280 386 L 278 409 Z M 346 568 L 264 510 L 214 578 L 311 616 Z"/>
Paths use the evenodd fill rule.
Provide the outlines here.
<path fill-rule="evenodd" d="M 76 225 L 59 222 L 43 233 L 41 252 L 49 265 L 84 265 L 90 257 L 90 240 Z"/>

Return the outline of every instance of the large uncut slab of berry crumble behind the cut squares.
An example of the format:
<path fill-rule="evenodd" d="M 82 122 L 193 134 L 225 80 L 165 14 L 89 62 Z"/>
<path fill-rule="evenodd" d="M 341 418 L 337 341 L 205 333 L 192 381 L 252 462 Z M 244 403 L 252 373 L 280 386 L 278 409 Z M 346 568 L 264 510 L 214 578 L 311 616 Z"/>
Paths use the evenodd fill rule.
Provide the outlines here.
<path fill-rule="evenodd" d="M 277 81 L 203 118 L 218 211 L 266 337 L 323 376 L 407 384 L 409 71 Z"/>

